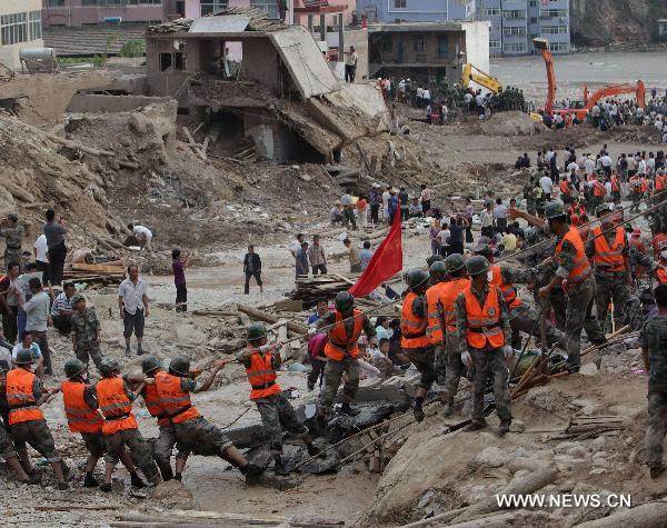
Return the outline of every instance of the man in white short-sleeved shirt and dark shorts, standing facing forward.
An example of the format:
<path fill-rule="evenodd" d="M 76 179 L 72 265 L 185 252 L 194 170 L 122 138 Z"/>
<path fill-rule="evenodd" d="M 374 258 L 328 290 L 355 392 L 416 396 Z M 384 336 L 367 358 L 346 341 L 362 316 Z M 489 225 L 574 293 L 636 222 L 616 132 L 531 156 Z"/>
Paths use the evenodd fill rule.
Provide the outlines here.
<path fill-rule="evenodd" d="M 128 276 L 118 288 L 118 308 L 123 323 L 126 356 L 129 357 L 131 356 L 130 338 L 132 332 L 137 337 L 137 356 L 143 353 L 141 341 L 143 340 L 145 318 L 148 317 L 148 296 L 146 285 L 139 278 L 139 267 L 128 266 Z"/>

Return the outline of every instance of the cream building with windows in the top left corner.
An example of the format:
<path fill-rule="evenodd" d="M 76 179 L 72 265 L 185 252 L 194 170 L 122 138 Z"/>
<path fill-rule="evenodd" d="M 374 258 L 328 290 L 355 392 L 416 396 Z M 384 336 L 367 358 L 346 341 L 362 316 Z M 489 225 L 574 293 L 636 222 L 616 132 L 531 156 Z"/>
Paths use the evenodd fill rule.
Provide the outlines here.
<path fill-rule="evenodd" d="M 43 46 L 41 1 L 0 1 L 0 62 L 12 70 L 21 68 L 21 48 Z"/>

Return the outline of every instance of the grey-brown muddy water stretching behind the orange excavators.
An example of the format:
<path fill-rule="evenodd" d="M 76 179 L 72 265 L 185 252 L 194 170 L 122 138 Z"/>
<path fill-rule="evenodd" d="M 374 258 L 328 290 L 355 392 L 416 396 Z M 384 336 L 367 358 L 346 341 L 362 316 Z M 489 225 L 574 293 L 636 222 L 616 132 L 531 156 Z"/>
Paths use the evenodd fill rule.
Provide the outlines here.
<path fill-rule="evenodd" d="M 606 84 L 636 82 L 641 79 L 647 96 L 657 88 L 664 96 L 667 89 L 667 51 L 646 53 L 575 53 L 555 56 L 554 67 L 558 86 L 557 98 L 581 98 L 584 86 L 600 88 Z M 519 87 L 530 99 L 546 97 L 547 76 L 541 57 L 494 59 L 491 71 L 504 86 Z"/>

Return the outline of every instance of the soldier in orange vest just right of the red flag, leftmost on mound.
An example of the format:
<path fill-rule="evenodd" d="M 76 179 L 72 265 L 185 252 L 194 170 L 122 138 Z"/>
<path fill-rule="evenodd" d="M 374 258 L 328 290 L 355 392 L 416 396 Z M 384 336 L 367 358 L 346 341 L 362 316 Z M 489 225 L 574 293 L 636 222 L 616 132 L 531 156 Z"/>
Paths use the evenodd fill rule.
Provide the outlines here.
<path fill-rule="evenodd" d="M 438 262 L 435 262 L 436 266 Z M 425 418 L 422 405 L 426 395 L 438 379 L 435 368 L 436 349 L 427 335 L 429 329 L 428 305 L 426 290 L 429 286 L 429 275 L 420 269 L 411 269 L 407 275 L 409 287 L 408 295 L 404 299 L 400 319 L 401 341 L 400 347 L 410 362 L 417 367 L 421 379 L 417 383 L 417 395 L 412 412 L 415 419 L 421 421 Z"/>

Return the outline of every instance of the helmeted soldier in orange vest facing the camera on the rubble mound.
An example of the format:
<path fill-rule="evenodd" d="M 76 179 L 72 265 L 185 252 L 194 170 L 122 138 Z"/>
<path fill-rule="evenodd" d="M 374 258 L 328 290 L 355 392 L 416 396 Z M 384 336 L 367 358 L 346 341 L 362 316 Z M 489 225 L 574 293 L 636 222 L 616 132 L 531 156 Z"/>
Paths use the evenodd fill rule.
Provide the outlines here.
<path fill-rule="evenodd" d="M 475 367 L 472 381 L 472 420 L 467 430 L 486 427 L 484 392 L 490 377 L 500 426 L 498 435 L 509 431 L 511 404 L 509 399 L 507 360 L 512 356 L 509 345 L 511 328 L 502 292 L 489 283 L 489 261 L 471 257 L 466 262 L 470 285 L 456 299 L 456 326 L 461 361 Z"/>

